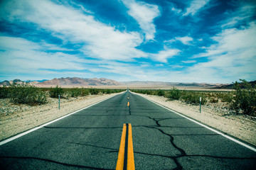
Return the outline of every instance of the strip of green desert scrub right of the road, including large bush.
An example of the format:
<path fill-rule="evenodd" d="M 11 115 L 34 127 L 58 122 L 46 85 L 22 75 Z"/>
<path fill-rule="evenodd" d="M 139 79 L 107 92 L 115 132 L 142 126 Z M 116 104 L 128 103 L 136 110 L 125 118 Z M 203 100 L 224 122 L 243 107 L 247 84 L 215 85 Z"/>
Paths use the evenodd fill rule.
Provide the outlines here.
<path fill-rule="evenodd" d="M 175 87 L 171 90 L 142 90 L 133 89 L 136 93 L 164 96 L 170 100 L 180 100 L 186 103 L 198 105 L 199 98 L 202 97 L 201 104 L 224 102 L 228 108 L 236 113 L 246 115 L 256 115 L 256 89 L 249 82 L 240 79 L 233 84 L 235 91 L 186 91 L 178 90 Z"/>

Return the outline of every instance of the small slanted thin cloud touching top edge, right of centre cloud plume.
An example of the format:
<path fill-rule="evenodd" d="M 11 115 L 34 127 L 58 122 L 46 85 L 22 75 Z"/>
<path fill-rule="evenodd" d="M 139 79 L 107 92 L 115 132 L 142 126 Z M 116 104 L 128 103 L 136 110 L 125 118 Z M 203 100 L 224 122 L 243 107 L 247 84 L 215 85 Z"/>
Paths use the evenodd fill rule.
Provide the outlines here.
<path fill-rule="evenodd" d="M 183 16 L 195 15 L 203 6 L 208 4 L 210 0 L 193 0 L 188 8 L 186 8 L 186 13 Z"/>

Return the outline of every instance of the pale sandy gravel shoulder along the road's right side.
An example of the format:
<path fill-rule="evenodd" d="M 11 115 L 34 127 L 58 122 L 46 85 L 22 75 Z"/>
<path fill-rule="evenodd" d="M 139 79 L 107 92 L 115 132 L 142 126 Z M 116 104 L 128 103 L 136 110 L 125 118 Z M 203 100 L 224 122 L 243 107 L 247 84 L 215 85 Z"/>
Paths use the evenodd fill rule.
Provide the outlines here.
<path fill-rule="evenodd" d="M 225 103 L 207 103 L 202 106 L 200 113 L 199 106 L 181 101 L 169 101 L 168 98 L 161 96 L 138 95 L 256 146 L 256 118 L 236 115 L 228 109 Z"/>

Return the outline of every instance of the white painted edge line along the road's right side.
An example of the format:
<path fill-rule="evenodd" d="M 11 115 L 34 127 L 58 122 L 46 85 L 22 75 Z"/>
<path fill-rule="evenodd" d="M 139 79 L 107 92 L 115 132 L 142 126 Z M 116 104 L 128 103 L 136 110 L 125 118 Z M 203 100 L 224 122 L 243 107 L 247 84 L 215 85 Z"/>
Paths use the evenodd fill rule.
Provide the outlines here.
<path fill-rule="evenodd" d="M 139 95 L 139 96 L 140 96 L 140 95 Z M 142 97 L 145 98 L 144 96 L 142 96 Z M 148 100 L 148 101 L 151 101 L 151 100 L 148 99 L 148 98 L 145 98 L 145 99 Z M 218 133 L 219 135 L 222 135 L 223 137 L 226 137 L 226 138 L 228 138 L 229 140 L 232 140 L 233 142 L 236 142 L 236 143 L 238 143 L 238 144 L 240 144 L 240 145 L 242 145 L 242 146 L 244 146 L 244 147 L 247 147 L 247 149 L 251 149 L 252 151 L 256 152 L 256 149 L 255 149 L 254 147 L 251 147 L 251 146 L 249 146 L 249 145 L 246 145 L 245 143 L 240 142 L 239 140 L 235 140 L 233 137 L 230 137 L 230 136 L 228 136 L 228 135 L 225 135 L 225 134 L 223 134 L 222 132 L 219 132 L 219 131 L 217 131 L 217 130 L 214 130 L 213 128 L 208 127 L 207 125 L 203 125 L 202 123 L 199 123 L 199 122 L 196 121 L 196 120 L 193 120 L 193 119 L 191 119 L 191 118 L 188 118 L 188 117 L 186 117 L 186 115 L 182 115 L 181 113 L 177 113 L 176 111 L 171 110 L 171 108 L 167 108 L 166 106 L 162 106 L 161 104 L 156 103 L 155 101 L 151 101 L 151 102 L 157 104 L 158 106 L 161 106 L 162 108 L 166 108 L 167 110 L 172 111 L 172 112 L 176 113 L 177 115 L 181 115 L 183 118 L 187 118 L 188 120 L 191 120 L 193 123 L 197 123 L 198 125 L 201 125 L 201 126 L 203 126 L 204 128 L 207 128 L 208 130 L 211 130 L 211 131 L 213 131 L 213 132 L 215 132 L 215 133 Z"/>

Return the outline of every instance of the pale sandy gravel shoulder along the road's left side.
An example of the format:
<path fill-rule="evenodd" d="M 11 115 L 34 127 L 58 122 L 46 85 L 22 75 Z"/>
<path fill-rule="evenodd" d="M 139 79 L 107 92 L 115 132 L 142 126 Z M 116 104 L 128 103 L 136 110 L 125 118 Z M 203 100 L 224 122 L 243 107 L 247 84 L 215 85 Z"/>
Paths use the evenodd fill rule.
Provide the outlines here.
<path fill-rule="evenodd" d="M 0 141 L 115 95 L 62 98 L 60 110 L 58 98 L 48 98 L 49 103 L 41 106 L 14 105 L 9 99 L 0 99 Z"/>

